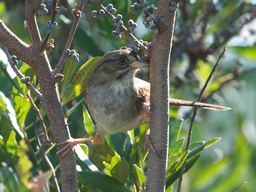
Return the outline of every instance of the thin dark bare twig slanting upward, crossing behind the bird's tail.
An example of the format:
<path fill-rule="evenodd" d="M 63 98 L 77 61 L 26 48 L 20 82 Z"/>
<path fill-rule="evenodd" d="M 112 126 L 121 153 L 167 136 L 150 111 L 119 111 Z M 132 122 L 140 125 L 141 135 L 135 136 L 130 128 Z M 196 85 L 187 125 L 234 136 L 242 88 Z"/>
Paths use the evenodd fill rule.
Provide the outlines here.
<path fill-rule="evenodd" d="M 207 80 L 206 80 L 206 82 L 205 82 L 205 84 L 204 84 L 204 86 L 203 86 L 203 88 L 202 88 L 202 90 L 201 90 L 201 92 L 200 92 L 200 94 L 199 94 L 199 96 L 198 96 L 198 102 L 201 101 L 202 95 L 203 95 L 203 93 L 204 93 L 204 91 L 205 91 L 205 89 L 206 89 L 206 87 L 207 87 L 207 85 L 208 85 L 210 79 L 212 78 L 212 74 L 214 73 L 216 67 L 217 67 L 218 64 L 220 63 L 220 59 L 221 59 L 222 56 L 225 54 L 225 52 L 226 52 L 226 46 L 224 46 L 224 48 L 223 48 L 223 50 L 222 50 L 222 52 L 221 52 L 221 54 L 220 54 L 220 56 L 219 56 L 217 62 L 216 62 L 216 63 L 214 64 L 214 66 L 212 67 L 212 71 L 210 72 L 210 75 L 208 76 L 208 78 L 207 78 Z M 193 116 L 192 116 L 192 118 L 191 118 L 190 127 L 189 127 L 189 131 L 188 131 L 188 141 L 187 141 L 187 145 L 186 145 L 185 151 L 187 151 L 187 150 L 189 149 L 189 147 L 190 147 L 190 141 L 191 141 L 191 136 L 192 136 L 192 127 L 193 127 L 193 124 L 194 124 L 194 120 L 195 120 L 195 118 L 196 118 L 197 110 L 198 110 L 198 107 L 196 107 L 196 108 L 194 109 L 194 113 L 193 113 Z M 180 177 L 179 177 L 178 190 L 177 190 L 177 192 L 180 192 L 180 190 L 181 190 L 182 176 L 183 176 L 185 167 L 186 167 L 186 160 L 184 161 L 184 163 L 183 163 L 183 165 L 182 165 L 182 168 L 181 168 L 181 170 L 180 170 Z"/>

